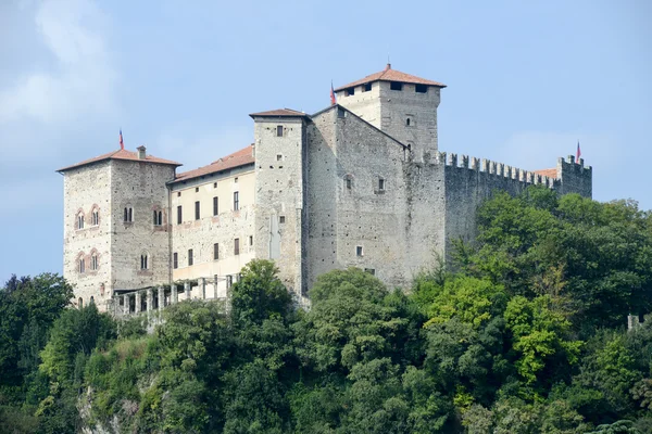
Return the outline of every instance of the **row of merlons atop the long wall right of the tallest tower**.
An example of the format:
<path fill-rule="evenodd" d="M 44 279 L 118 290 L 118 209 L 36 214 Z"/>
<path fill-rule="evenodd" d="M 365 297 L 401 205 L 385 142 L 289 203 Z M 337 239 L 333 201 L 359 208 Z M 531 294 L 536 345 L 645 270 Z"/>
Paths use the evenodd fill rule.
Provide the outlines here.
<path fill-rule="evenodd" d="M 513 179 L 528 184 L 542 184 L 551 189 L 559 186 L 559 179 L 556 178 L 537 174 L 531 170 L 512 167 L 504 163 L 497 163 L 487 158 L 477 158 L 468 155 L 459 156 L 455 153 L 447 154 L 446 152 L 438 151 L 435 152 L 426 163 L 431 165 L 444 165 L 446 167 L 453 167 L 455 169 L 475 170 L 489 176 Z"/>

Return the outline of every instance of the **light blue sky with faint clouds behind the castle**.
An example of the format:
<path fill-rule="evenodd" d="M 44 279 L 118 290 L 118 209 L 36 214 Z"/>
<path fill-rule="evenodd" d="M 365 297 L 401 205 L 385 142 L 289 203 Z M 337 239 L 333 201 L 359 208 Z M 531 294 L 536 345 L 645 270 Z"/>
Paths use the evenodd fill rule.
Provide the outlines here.
<path fill-rule="evenodd" d="M 448 85 L 439 148 L 553 167 L 581 143 L 599 201 L 652 208 L 652 2 L 0 2 L 0 281 L 62 269 L 59 167 L 128 149 L 195 168 L 248 114 L 328 104 L 392 67 Z"/>

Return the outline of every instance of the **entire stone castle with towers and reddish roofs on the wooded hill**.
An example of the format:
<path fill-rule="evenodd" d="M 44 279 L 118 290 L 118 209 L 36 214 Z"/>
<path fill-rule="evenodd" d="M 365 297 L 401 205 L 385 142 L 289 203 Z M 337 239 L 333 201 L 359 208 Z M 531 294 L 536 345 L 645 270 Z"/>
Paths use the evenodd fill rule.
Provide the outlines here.
<path fill-rule="evenodd" d="M 195 170 L 177 173 L 179 163 L 145 146 L 59 169 L 75 303 L 162 307 L 176 302 L 179 281 L 224 297 L 253 258 L 273 259 L 298 295 L 349 266 L 405 286 L 452 240 L 474 237 L 476 208 L 494 189 L 591 196 L 591 167 L 573 156 L 526 171 L 439 152 L 443 88 L 388 64 L 335 89 L 337 103 L 313 115 L 251 114 L 254 142 Z"/>

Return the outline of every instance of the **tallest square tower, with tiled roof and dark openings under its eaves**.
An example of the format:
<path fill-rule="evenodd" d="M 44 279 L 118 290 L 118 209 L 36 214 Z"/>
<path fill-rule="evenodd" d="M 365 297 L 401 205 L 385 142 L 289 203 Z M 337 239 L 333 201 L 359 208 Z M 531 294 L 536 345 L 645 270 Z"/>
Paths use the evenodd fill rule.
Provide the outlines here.
<path fill-rule="evenodd" d="M 336 89 L 337 102 L 412 150 L 413 158 L 424 161 L 437 151 L 437 81 L 392 69 Z"/>

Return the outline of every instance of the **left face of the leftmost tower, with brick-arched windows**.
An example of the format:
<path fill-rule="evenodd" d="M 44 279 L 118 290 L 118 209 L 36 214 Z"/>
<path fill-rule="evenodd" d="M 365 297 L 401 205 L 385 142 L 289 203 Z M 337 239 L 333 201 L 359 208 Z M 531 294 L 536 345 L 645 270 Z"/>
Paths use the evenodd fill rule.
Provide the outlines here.
<path fill-rule="evenodd" d="M 92 210 L 99 225 L 92 225 Z M 84 214 L 84 229 L 77 228 L 77 215 Z M 100 308 L 111 298 L 111 166 L 109 162 L 67 170 L 63 178 L 63 276 L 75 291 L 74 303 L 84 305 L 91 297 Z M 92 255 L 98 269 L 91 269 Z M 79 259 L 85 272 L 79 272 Z M 104 294 L 102 295 L 102 285 Z"/>

